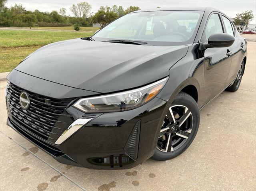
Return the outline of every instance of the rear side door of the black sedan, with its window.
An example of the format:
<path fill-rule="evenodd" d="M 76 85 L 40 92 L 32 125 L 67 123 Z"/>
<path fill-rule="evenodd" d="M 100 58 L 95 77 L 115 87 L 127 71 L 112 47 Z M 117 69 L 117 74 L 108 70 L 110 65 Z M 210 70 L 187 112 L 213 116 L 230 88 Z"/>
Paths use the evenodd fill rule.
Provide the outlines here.
<path fill-rule="evenodd" d="M 232 62 L 230 66 L 230 72 L 228 74 L 228 79 L 226 81 L 226 86 L 228 86 L 232 81 L 236 79 L 240 64 L 242 63 L 246 45 L 244 39 L 239 34 L 237 34 L 233 23 L 226 16 L 222 15 L 221 17 L 226 29 L 226 33 L 234 36 L 235 38 L 235 41 L 231 46 Z"/>

